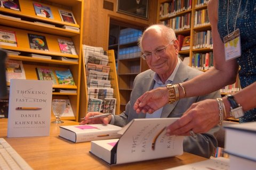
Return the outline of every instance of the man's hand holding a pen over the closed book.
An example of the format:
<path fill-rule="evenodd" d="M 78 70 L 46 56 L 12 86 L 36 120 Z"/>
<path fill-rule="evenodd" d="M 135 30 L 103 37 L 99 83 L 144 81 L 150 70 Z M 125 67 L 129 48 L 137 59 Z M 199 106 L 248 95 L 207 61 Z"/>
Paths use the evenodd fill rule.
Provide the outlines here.
<path fill-rule="evenodd" d="M 94 115 L 101 115 L 103 113 L 100 112 L 88 112 L 86 116 L 84 117 L 84 120 L 80 122 L 79 124 L 109 124 L 111 121 L 111 115 L 107 117 L 98 117 L 98 118 L 90 118 L 91 116 Z"/>

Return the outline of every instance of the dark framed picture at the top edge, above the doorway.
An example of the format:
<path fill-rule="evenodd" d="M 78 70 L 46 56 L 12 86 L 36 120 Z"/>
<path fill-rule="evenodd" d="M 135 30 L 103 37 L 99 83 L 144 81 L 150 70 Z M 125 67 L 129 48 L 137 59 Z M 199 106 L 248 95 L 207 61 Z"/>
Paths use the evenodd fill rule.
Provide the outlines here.
<path fill-rule="evenodd" d="M 148 19 L 148 0 L 118 0 L 117 12 Z"/>

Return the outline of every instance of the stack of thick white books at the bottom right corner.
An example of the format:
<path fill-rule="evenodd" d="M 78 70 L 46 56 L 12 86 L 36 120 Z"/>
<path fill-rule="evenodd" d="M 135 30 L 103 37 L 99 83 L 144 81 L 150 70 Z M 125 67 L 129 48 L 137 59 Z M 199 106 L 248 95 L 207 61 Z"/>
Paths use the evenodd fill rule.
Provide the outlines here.
<path fill-rule="evenodd" d="M 229 154 L 230 169 L 255 169 L 256 122 L 225 126 L 225 152 Z"/>

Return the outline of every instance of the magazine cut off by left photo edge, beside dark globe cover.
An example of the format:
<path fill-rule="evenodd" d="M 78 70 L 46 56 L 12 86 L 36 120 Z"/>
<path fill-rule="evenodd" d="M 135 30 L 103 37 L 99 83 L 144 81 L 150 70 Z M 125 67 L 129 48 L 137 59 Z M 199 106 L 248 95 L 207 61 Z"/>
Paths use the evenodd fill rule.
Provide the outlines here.
<path fill-rule="evenodd" d="M 15 32 L 0 29 L 0 45 L 17 47 Z"/>

